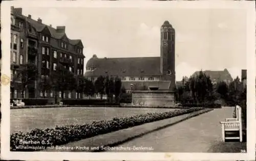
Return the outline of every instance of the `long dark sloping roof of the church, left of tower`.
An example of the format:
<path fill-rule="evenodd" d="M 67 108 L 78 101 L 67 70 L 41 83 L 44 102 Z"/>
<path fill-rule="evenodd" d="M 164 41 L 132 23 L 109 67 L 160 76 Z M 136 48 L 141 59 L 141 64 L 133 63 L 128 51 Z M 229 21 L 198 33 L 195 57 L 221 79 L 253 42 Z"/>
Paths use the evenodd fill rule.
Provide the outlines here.
<path fill-rule="evenodd" d="M 157 76 L 160 72 L 160 57 L 97 58 L 93 57 L 86 67 L 94 67 L 86 76 Z"/>

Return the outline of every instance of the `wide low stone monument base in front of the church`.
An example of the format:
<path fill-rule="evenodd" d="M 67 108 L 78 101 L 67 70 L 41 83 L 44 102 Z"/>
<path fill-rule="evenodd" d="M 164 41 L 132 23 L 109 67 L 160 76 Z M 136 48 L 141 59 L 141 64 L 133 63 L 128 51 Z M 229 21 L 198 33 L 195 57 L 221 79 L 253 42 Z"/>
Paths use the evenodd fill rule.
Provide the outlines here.
<path fill-rule="evenodd" d="M 174 107 L 175 92 L 169 90 L 133 91 L 132 105 L 143 107 Z"/>

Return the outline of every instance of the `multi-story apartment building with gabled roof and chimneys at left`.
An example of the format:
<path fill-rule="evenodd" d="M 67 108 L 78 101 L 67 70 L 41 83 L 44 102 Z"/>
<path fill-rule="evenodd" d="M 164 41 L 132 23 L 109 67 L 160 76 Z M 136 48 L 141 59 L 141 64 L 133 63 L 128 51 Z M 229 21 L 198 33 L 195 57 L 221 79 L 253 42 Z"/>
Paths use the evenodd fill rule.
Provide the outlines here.
<path fill-rule="evenodd" d="M 63 65 L 76 76 L 83 75 L 83 44 L 81 40 L 71 40 L 67 37 L 65 26 L 42 23 L 42 20 L 32 19 L 31 15 L 22 15 L 22 8 L 11 9 L 11 98 L 47 97 L 53 98 L 54 91 L 40 90 L 39 83 L 50 76 L 58 65 Z M 38 68 L 38 79 L 34 88 L 21 93 L 19 78 L 13 79 L 21 64 L 35 64 Z M 58 95 L 61 95 L 59 93 Z M 65 98 L 76 98 L 80 94 L 75 91 L 65 92 Z"/>

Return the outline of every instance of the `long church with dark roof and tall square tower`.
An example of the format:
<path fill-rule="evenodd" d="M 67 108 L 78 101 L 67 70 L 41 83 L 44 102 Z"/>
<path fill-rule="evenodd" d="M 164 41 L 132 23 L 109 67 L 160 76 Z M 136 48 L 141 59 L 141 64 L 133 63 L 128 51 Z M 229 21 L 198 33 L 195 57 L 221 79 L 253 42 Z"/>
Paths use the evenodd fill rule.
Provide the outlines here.
<path fill-rule="evenodd" d="M 160 57 L 98 58 L 94 55 L 87 62 L 85 76 L 92 81 L 99 76 L 118 76 L 127 91 L 131 90 L 131 85 L 137 90 L 147 90 L 150 86 L 175 89 L 175 29 L 164 21 L 159 34 Z"/>

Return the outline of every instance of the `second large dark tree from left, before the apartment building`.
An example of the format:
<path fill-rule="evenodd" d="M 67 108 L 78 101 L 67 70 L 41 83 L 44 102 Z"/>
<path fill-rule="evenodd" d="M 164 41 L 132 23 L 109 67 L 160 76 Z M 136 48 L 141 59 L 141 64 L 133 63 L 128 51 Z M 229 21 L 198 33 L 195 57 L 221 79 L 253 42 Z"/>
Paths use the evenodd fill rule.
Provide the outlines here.
<path fill-rule="evenodd" d="M 52 75 L 55 94 L 57 91 L 60 91 L 61 98 L 63 98 L 65 91 L 73 91 L 77 88 L 74 74 L 62 65 L 57 66 L 56 71 Z"/>

